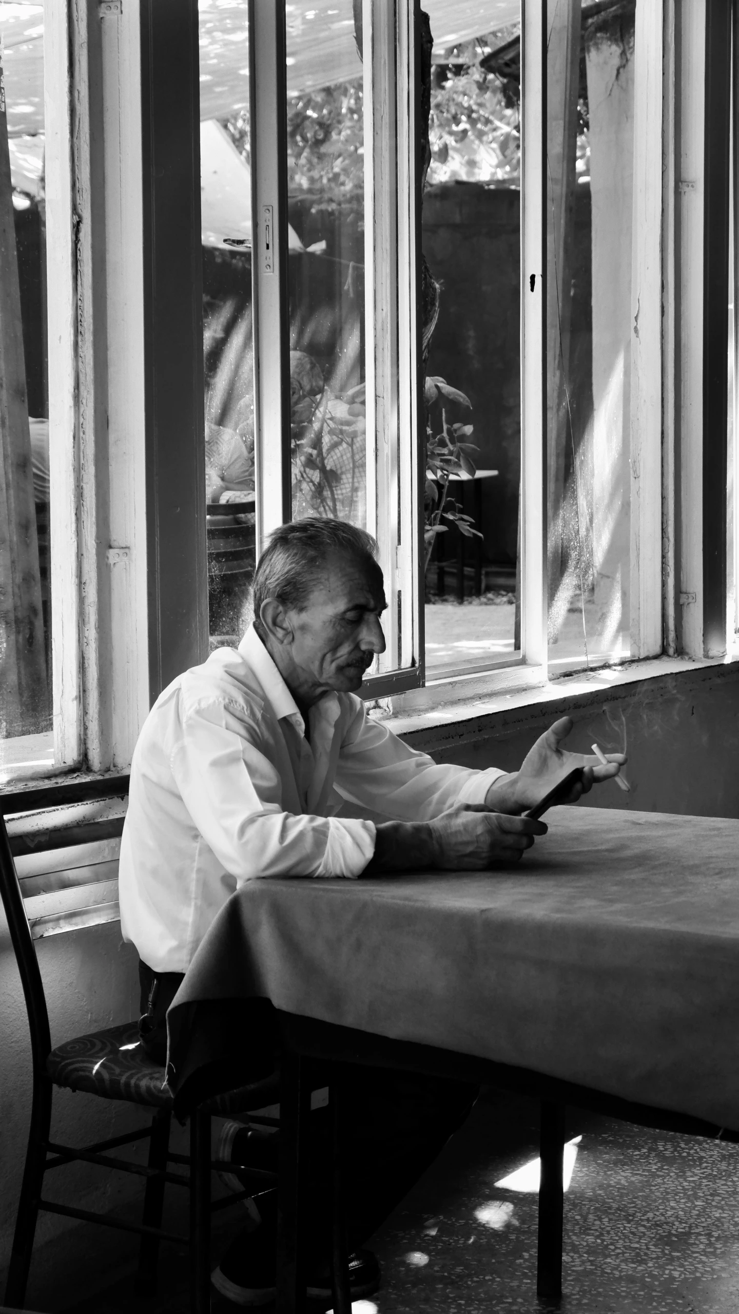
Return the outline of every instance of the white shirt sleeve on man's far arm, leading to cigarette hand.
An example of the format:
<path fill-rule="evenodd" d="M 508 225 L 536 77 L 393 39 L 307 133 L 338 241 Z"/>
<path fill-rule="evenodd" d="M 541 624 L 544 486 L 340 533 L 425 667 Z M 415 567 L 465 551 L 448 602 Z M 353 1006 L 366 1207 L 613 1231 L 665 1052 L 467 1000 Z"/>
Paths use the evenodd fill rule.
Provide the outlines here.
<path fill-rule="evenodd" d="M 341 741 L 336 790 L 349 803 L 398 821 L 431 821 L 463 803 L 484 803 L 494 781 L 505 771 L 475 771 L 434 762 L 368 716 L 361 699 Z"/>

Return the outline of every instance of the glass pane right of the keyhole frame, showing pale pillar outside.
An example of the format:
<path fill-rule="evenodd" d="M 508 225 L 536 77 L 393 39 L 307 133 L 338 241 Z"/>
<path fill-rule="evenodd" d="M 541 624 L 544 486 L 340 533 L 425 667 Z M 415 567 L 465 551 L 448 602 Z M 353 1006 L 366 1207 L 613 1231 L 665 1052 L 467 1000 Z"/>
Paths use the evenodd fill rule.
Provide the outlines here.
<path fill-rule="evenodd" d="M 549 654 L 630 653 L 634 8 L 553 12 L 547 43 Z"/>

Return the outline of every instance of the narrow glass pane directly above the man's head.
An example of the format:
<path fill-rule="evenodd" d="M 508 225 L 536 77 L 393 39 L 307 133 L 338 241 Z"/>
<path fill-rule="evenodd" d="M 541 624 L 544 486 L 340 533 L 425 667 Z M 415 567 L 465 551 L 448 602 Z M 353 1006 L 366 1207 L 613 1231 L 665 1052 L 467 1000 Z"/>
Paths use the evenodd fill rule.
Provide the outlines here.
<path fill-rule="evenodd" d="M 365 131 L 352 0 L 287 5 L 293 518 L 366 527 Z"/>

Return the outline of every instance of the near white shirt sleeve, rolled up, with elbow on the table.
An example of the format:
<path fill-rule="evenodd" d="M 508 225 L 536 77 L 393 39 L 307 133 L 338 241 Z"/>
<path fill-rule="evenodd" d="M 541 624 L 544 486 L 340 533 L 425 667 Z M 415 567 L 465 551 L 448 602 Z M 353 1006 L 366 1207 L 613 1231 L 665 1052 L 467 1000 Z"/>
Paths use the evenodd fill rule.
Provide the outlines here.
<path fill-rule="evenodd" d="M 294 815 L 277 769 L 222 700 L 182 720 L 171 767 L 194 827 L 236 883 L 257 876 L 357 876 L 374 853 L 371 821 Z"/>

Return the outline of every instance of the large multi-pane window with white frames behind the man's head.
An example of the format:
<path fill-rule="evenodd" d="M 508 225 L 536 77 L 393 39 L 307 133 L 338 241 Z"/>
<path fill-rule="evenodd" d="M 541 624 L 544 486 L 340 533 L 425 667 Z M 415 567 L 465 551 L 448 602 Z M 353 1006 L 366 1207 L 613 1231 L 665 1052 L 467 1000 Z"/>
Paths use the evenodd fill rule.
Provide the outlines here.
<path fill-rule="evenodd" d="M 253 511 L 231 487 L 209 507 L 210 558 L 231 537 L 244 565 L 238 624 L 211 643 L 239 632 L 273 524 L 353 519 L 390 594 L 369 696 L 662 650 L 660 22 L 626 0 L 572 0 L 546 26 L 513 0 L 427 11 L 291 4 L 282 32 L 256 7 L 251 120 L 231 78 L 213 125 L 256 160 L 253 353 L 245 279 L 234 350 L 217 348 L 247 390 L 253 371 L 253 415 L 251 393 L 239 402 Z M 218 13 L 202 9 L 201 33 L 247 39 L 245 5 Z M 203 39 L 203 99 L 224 67 Z M 226 394 L 209 352 L 210 426 Z"/>

